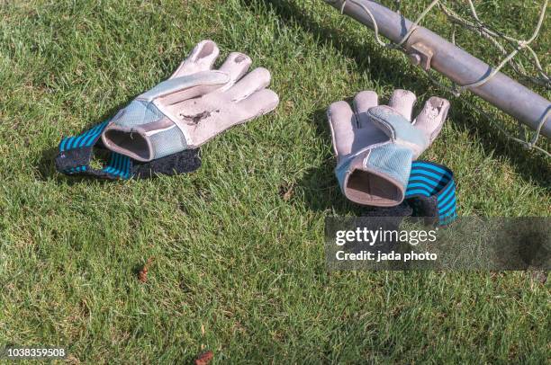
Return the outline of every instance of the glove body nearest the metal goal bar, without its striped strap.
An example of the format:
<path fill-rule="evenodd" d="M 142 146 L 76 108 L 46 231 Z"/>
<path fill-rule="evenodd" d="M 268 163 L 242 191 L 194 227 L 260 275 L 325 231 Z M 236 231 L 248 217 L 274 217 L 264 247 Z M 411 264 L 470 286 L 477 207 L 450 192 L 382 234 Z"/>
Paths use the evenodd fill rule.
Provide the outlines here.
<path fill-rule="evenodd" d="M 449 102 L 432 97 L 416 120 L 416 97 L 395 90 L 389 105 L 379 105 L 375 92 L 358 93 L 354 111 L 348 102 L 335 102 L 328 111 L 335 170 L 348 200 L 375 207 L 394 207 L 405 197 L 411 163 L 437 138 Z"/>

